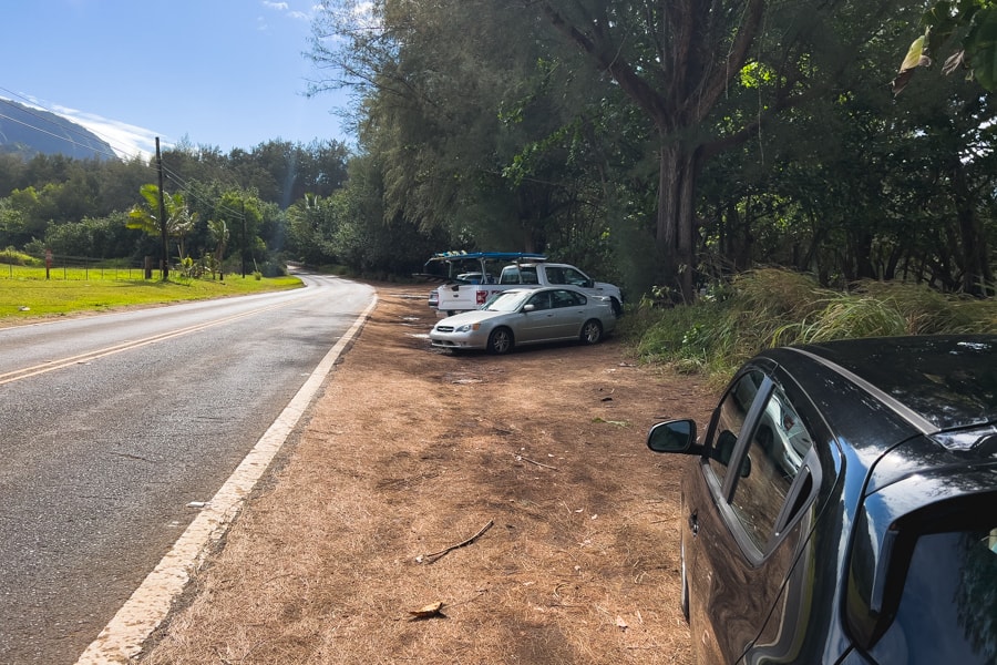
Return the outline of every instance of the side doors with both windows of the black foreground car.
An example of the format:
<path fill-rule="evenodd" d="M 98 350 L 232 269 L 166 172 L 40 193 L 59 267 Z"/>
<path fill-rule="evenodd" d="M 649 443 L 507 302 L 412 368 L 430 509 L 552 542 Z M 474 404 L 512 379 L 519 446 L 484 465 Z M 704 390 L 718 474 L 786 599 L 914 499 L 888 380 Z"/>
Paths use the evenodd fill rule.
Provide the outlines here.
<path fill-rule="evenodd" d="M 769 369 L 749 368 L 732 382 L 685 484 L 689 623 L 705 663 L 738 662 L 771 616 L 784 614 L 777 605 L 811 529 L 802 515 L 820 485 L 813 438 Z"/>

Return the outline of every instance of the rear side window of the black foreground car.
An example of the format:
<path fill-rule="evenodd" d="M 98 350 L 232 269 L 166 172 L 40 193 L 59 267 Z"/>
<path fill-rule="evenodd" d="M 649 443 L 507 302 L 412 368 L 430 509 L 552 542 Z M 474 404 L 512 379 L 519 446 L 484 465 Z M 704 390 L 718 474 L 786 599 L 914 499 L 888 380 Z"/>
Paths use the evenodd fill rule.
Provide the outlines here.
<path fill-rule="evenodd" d="M 748 461 L 731 498 L 731 508 L 748 536 L 764 551 L 775 534 L 803 458 L 813 438 L 779 386 L 758 418 L 748 448 Z M 785 518 L 784 518 L 785 519 Z"/>

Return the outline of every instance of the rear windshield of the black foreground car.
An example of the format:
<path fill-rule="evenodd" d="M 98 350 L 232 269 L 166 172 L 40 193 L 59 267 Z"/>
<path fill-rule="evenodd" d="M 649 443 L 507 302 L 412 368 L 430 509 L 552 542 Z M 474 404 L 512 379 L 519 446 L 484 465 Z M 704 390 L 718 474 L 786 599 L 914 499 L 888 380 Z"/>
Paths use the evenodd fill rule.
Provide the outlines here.
<path fill-rule="evenodd" d="M 896 618 L 871 649 L 877 662 L 997 662 L 997 528 L 987 526 L 917 539 Z"/>

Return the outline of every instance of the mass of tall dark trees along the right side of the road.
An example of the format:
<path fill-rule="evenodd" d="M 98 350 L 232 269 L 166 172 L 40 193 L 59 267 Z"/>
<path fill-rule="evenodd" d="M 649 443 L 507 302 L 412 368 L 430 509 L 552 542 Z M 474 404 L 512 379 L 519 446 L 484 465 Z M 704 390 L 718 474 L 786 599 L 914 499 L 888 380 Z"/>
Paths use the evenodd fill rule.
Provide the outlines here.
<path fill-rule="evenodd" d="M 760 263 L 993 293 L 988 105 L 890 94 L 918 2 L 322 7 L 316 91 L 358 93 L 386 224 L 686 301 Z"/>

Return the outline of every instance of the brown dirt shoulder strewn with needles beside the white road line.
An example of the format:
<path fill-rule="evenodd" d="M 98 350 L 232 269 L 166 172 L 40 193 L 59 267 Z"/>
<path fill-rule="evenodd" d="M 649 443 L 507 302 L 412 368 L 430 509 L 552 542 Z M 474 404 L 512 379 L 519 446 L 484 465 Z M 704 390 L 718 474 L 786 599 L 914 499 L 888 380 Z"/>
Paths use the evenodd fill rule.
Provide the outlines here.
<path fill-rule="evenodd" d="M 644 439 L 709 391 L 615 338 L 435 351 L 424 291 L 378 289 L 143 663 L 690 662 L 679 460 Z"/>

